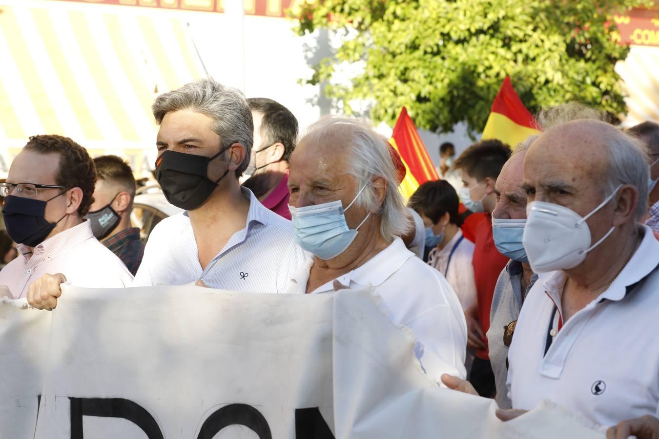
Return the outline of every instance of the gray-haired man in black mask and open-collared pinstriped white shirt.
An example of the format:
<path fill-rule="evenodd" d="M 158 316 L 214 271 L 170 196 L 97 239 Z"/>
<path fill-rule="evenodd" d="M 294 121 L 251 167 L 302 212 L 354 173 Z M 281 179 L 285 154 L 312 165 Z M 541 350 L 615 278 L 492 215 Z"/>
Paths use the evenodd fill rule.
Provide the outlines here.
<path fill-rule="evenodd" d="M 196 282 L 223 290 L 279 293 L 306 253 L 291 222 L 241 188 L 252 148 L 252 114 L 243 93 L 214 80 L 159 95 L 156 178 L 185 212 L 152 231 L 132 286 Z M 30 303 L 53 308 L 63 274 L 32 286 Z"/>

